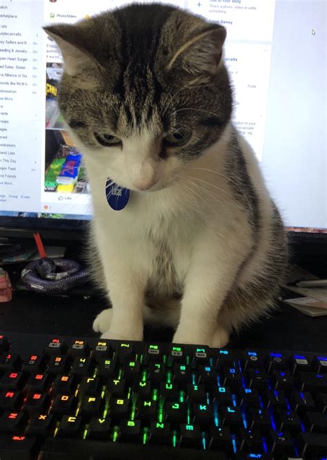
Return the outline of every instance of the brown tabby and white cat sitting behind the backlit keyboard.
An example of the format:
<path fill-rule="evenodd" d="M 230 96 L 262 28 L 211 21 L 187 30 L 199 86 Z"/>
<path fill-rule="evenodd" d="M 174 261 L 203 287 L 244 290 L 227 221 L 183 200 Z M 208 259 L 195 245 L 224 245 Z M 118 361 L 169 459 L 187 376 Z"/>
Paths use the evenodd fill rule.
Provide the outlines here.
<path fill-rule="evenodd" d="M 112 304 L 95 331 L 140 341 L 146 322 L 174 327 L 174 343 L 224 347 L 274 305 L 287 259 L 279 211 L 232 123 L 226 29 L 152 3 L 45 30 L 90 182 L 92 273 Z M 110 193 L 130 191 L 119 211 L 108 178 Z"/>

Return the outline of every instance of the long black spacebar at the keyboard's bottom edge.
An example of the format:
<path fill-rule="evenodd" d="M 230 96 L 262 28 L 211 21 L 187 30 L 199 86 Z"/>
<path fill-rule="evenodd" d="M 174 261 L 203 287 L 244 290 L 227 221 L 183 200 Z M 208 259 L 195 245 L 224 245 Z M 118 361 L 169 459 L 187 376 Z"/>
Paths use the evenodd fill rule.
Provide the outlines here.
<path fill-rule="evenodd" d="M 48 438 L 40 460 L 226 460 L 224 452 L 83 439 Z"/>

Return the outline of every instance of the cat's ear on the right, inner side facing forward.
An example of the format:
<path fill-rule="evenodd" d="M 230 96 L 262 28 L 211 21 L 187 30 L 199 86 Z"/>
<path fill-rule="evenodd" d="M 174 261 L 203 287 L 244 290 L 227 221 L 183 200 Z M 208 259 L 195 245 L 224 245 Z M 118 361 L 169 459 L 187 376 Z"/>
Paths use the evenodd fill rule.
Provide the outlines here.
<path fill-rule="evenodd" d="M 221 61 L 225 39 L 223 26 L 210 25 L 209 30 L 188 37 L 170 59 L 168 70 L 176 63 L 190 75 L 214 75 Z"/>

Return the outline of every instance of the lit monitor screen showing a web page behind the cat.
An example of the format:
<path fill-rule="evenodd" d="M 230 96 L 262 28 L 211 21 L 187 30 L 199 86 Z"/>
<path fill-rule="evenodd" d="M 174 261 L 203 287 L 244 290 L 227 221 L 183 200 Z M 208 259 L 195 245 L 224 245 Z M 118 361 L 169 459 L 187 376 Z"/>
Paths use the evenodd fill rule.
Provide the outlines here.
<path fill-rule="evenodd" d="M 92 218 L 83 152 L 58 108 L 63 61 L 41 27 L 126 3 L 0 0 L 0 215 L 12 222 Z M 234 123 L 286 226 L 326 231 L 326 0 L 167 3 L 226 27 Z"/>

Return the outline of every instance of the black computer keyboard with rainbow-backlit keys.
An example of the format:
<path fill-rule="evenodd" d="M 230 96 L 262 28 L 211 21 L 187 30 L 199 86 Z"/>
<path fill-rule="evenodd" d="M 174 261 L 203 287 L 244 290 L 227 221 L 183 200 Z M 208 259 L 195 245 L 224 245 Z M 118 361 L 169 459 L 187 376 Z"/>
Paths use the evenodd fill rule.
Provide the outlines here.
<path fill-rule="evenodd" d="M 0 459 L 327 458 L 327 354 L 0 335 Z"/>

